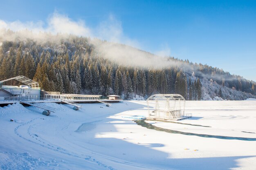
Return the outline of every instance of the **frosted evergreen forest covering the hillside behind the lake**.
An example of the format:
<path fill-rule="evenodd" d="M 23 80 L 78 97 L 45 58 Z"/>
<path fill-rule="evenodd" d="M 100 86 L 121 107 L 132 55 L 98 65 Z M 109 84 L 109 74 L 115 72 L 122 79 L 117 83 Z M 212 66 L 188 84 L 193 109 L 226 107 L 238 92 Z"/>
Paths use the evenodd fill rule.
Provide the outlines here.
<path fill-rule="evenodd" d="M 167 63 L 163 68 L 120 64 L 104 57 L 105 54 L 90 38 L 69 35 L 53 41 L 54 36 L 57 37 L 51 35 L 51 39 L 45 42 L 0 38 L 0 79 L 25 75 L 39 82 L 45 91 L 104 96 L 116 94 L 124 99 L 132 99 L 134 95 L 146 98 L 155 93 L 179 93 L 187 100 L 256 97 L 255 82 L 216 67 L 174 57 L 161 59 Z M 140 53 L 154 57 L 144 51 Z M 122 55 L 126 55 L 126 51 Z"/>

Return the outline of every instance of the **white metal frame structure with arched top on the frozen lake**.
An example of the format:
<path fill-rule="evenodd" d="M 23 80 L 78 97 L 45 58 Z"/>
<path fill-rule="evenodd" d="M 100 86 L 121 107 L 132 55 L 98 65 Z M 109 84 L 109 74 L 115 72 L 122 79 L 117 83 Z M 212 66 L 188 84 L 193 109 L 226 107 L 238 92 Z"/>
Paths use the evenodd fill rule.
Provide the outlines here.
<path fill-rule="evenodd" d="M 186 99 L 179 94 L 152 95 L 147 99 L 148 118 L 164 120 L 183 119 L 187 117 L 185 115 L 185 104 Z"/>

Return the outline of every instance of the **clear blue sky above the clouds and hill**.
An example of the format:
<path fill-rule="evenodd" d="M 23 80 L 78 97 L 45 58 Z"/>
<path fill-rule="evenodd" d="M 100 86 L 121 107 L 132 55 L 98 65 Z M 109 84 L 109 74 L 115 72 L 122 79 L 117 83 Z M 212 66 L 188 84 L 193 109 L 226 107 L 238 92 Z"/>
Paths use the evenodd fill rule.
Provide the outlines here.
<path fill-rule="evenodd" d="M 57 12 L 97 30 L 112 16 L 121 30 L 121 43 L 129 40 L 145 51 L 162 51 L 256 81 L 256 1 L 0 0 L 0 4 L 4 22 L 41 21 L 46 26 Z"/>

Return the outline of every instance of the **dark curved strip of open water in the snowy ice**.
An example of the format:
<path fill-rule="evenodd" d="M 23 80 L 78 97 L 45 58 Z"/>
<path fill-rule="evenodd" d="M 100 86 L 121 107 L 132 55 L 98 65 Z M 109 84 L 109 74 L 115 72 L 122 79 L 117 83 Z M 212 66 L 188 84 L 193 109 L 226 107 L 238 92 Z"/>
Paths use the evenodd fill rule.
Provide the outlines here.
<path fill-rule="evenodd" d="M 193 136 L 199 136 L 199 137 L 211 137 L 211 138 L 217 138 L 217 139 L 236 139 L 236 140 L 242 140 L 242 141 L 256 141 L 256 138 L 247 138 L 247 137 L 227 137 L 227 136 L 217 136 L 217 135 L 205 135 L 205 134 L 197 134 L 197 133 L 190 133 L 190 132 L 181 132 L 177 130 L 170 130 L 165 128 L 159 128 L 157 126 L 154 126 L 152 124 L 147 123 L 145 120 L 134 120 L 136 124 L 148 128 L 148 129 L 154 129 L 157 131 L 167 132 L 167 133 L 177 133 L 182 135 L 193 135 Z"/>

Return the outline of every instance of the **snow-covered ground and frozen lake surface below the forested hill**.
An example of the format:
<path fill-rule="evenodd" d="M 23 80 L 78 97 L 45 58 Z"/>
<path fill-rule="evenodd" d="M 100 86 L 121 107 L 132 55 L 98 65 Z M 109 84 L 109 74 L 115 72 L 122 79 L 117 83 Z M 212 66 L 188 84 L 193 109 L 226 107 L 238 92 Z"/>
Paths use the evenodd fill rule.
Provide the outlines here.
<path fill-rule="evenodd" d="M 256 141 L 217 139 L 148 129 L 125 119 L 147 115 L 145 101 L 82 110 L 49 103 L 0 108 L 0 170 L 255 170 Z M 256 139 L 256 101 L 187 101 L 183 124 L 146 121 L 160 128 Z M 14 121 L 10 121 L 13 119 Z M 196 124 L 202 126 L 193 126 Z M 211 127 L 204 127 L 211 126 Z"/>

